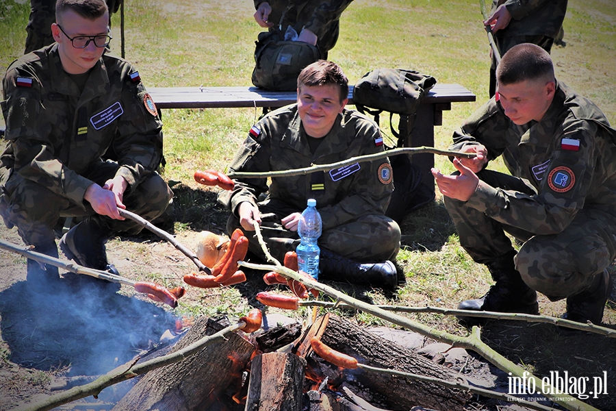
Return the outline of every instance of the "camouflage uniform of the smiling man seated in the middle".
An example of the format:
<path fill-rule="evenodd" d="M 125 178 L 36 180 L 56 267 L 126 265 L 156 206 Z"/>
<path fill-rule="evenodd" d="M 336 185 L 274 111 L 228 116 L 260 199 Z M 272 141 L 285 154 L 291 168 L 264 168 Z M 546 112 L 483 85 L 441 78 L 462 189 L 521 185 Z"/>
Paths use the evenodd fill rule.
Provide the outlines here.
<path fill-rule="evenodd" d="M 357 155 L 383 151 L 381 134 L 372 121 L 361 114 L 344 110 L 333 128 L 311 154 L 301 126 L 297 105 L 271 112 L 252 129 L 231 163 L 231 171 L 264 172 L 298 169 L 311 164 L 330 164 Z M 298 245 L 298 234 L 285 229 L 280 219 L 306 208 L 314 198 L 323 220 L 319 245 L 347 258 L 359 261 L 382 261 L 396 256 L 400 248 L 400 227 L 386 217 L 385 209 L 394 190 L 387 158 L 356 163 L 310 175 L 238 179 L 232 192 L 222 192 L 219 201 L 232 212 L 229 233 L 240 227 L 237 215 L 242 201 L 255 204 L 261 193 L 264 216 L 261 225 L 272 256 L 282 258 Z M 251 251 L 263 256 L 253 236 Z"/>

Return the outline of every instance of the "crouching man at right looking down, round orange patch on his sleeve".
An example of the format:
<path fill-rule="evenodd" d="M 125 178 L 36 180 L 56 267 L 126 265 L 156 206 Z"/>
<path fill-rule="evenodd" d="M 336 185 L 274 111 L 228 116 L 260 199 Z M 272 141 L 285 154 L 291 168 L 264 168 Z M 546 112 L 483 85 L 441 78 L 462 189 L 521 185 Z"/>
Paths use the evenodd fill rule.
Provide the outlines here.
<path fill-rule="evenodd" d="M 541 47 L 513 47 L 496 75 L 496 96 L 450 147 L 476 158 L 455 158 L 454 175 L 433 170 L 461 245 L 496 281 L 459 308 L 538 314 L 539 291 L 567 299 L 563 318 L 601 323 L 616 258 L 616 131 L 556 81 Z M 499 155 L 513 176 L 485 168 Z"/>

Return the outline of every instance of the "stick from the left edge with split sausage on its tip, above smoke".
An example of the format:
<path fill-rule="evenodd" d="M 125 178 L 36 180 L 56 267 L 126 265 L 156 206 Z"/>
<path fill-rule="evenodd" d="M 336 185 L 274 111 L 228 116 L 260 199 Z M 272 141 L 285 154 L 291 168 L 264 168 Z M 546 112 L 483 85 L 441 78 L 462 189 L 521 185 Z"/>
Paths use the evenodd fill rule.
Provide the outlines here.
<path fill-rule="evenodd" d="M 136 281 L 133 281 L 132 279 L 121 277 L 120 275 L 107 273 L 107 271 L 90 269 L 88 267 L 84 267 L 79 264 L 75 264 L 73 262 L 65 262 L 65 261 L 60 260 L 59 258 L 47 256 L 47 254 L 38 253 L 37 251 L 29 250 L 25 247 L 19 247 L 18 245 L 12 244 L 11 242 L 7 242 L 5 240 L 0 240 L 0 248 L 7 249 L 9 251 L 14 251 L 15 253 L 21 254 L 21 256 L 24 256 L 25 258 L 29 258 L 30 260 L 44 262 L 45 264 L 58 267 L 59 269 L 70 271 L 71 273 L 90 275 L 90 277 L 106 279 L 109 282 L 124 284 L 125 286 L 131 286 L 137 292 L 141 292 L 143 294 L 150 295 L 153 293 L 155 294 L 162 293 L 161 297 L 159 297 L 159 301 L 166 303 L 168 306 L 171 306 L 172 308 L 177 307 L 177 298 L 174 295 L 172 295 L 172 293 L 169 290 L 167 290 L 166 288 L 162 286 L 157 286 L 156 284 L 153 284 L 153 283 L 136 282 Z"/>

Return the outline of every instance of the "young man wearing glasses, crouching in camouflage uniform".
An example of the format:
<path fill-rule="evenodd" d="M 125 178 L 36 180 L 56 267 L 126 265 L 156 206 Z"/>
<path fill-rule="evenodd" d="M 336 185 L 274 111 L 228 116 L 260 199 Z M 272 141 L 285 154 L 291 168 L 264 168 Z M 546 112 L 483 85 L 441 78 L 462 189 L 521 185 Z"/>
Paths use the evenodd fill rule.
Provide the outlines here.
<path fill-rule="evenodd" d="M 84 216 L 60 248 L 78 264 L 117 273 L 105 240 L 142 229 L 118 208 L 151 221 L 172 197 L 155 171 L 162 123 L 136 69 L 106 53 L 104 0 L 58 0 L 56 18 L 56 42 L 13 62 L 3 78 L 0 214 L 26 245 L 53 257 L 60 217 Z M 103 160 L 110 157 L 117 160 Z M 55 288 L 59 275 L 28 260 L 27 280 L 44 291 Z"/>

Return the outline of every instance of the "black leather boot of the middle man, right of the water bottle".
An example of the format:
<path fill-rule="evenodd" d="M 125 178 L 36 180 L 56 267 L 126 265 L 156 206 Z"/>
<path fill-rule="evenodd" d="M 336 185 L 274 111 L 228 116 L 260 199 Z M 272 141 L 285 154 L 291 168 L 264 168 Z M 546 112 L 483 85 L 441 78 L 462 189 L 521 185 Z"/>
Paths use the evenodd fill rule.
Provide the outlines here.
<path fill-rule="evenodd" d="M 320 279 L 368 285 L 387 290 L 393 290 L 398 286 L 396 266 L 389 260 L 361 264 L 327 249 L 321 249 L 319 271 Z"/>

